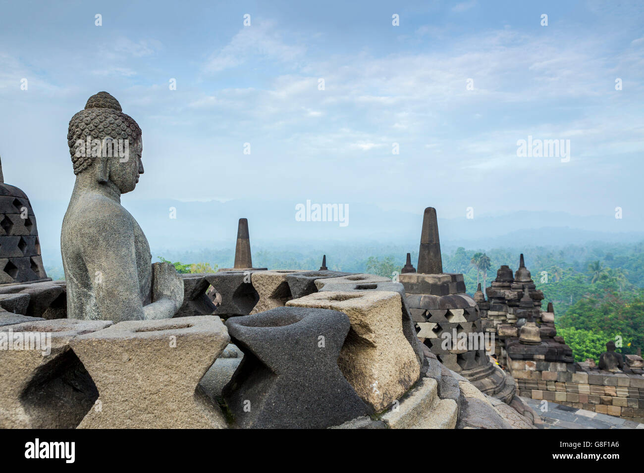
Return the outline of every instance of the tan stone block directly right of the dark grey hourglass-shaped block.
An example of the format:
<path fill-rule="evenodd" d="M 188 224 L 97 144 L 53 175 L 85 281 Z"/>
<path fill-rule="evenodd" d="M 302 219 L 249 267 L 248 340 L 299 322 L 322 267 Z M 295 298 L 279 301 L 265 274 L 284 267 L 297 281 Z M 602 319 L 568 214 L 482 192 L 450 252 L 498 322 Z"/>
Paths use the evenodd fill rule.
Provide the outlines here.
<path fill-rule="evenodd" d="M 403 335 L 401 297 L 397 292 L 319 292 L 287 306 L 346 313 L 350 335 L 338 364 L 363 400 L 376 411 L 389 407 L 419 378 L 420 366 Z"/>

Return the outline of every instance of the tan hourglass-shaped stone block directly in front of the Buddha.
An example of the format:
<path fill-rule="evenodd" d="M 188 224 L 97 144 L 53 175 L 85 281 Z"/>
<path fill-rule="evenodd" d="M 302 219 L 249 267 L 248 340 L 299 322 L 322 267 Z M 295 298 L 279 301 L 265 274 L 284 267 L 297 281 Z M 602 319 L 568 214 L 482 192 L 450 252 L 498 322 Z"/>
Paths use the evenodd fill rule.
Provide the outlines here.
<path fill-rule="evenodd" d="M 212 315 L 129 320 L 71 340 L 100 394 L 79 428 L 226 427 L 198 383 L 229 341 Z"/>

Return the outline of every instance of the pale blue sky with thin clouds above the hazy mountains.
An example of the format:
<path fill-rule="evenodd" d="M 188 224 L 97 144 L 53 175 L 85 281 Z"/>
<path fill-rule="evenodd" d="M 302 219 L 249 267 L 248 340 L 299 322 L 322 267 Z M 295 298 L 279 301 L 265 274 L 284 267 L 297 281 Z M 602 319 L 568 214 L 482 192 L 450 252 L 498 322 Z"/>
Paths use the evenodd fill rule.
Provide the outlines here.
<path fill-rule="evenodd" d="M 6 181 L 68 201 L 68 122 L 106 90 L 143 130 L 124 202 L 641 218 L 643 3 L 267 3 L 1 2 Z M 570 162 L 517 157 L 529 135 L 571 140 Z"/>

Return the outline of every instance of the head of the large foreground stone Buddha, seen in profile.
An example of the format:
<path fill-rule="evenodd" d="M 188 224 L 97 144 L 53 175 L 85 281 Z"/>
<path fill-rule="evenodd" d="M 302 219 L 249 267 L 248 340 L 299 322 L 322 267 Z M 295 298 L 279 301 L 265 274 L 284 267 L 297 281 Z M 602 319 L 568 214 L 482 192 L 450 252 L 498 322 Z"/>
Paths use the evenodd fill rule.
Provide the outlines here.
<path fill-rule="evenodd" d="M 141 129 L 107 92 L 92 95 L 71 117 L 67 142 L 77 176 L 92 172 L 99 183 L 109 181 L 124 194 L 143 174 Z"/>

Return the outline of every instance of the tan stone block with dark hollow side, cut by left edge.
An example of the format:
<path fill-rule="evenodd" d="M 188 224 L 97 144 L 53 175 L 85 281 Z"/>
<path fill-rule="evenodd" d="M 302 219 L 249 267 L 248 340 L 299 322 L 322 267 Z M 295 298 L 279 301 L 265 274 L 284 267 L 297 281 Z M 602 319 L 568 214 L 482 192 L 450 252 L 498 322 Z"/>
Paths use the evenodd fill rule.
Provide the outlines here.
<path fill-rule="evenodd" d="M 3 326 L 0 344 L 8 348 L 8 340 L 13 337 L 14 347 L 0 350 L 0 428 L 76 427 L 93 407 L 99 393 L 71 351 L 70 340 L 111 323 L 58 319 Z M 23 340 L 31 337 L 38 340 L 39 346 L 25 343 L 23 348 L 32 349 L 17 349 L 15 337 Z"/>

